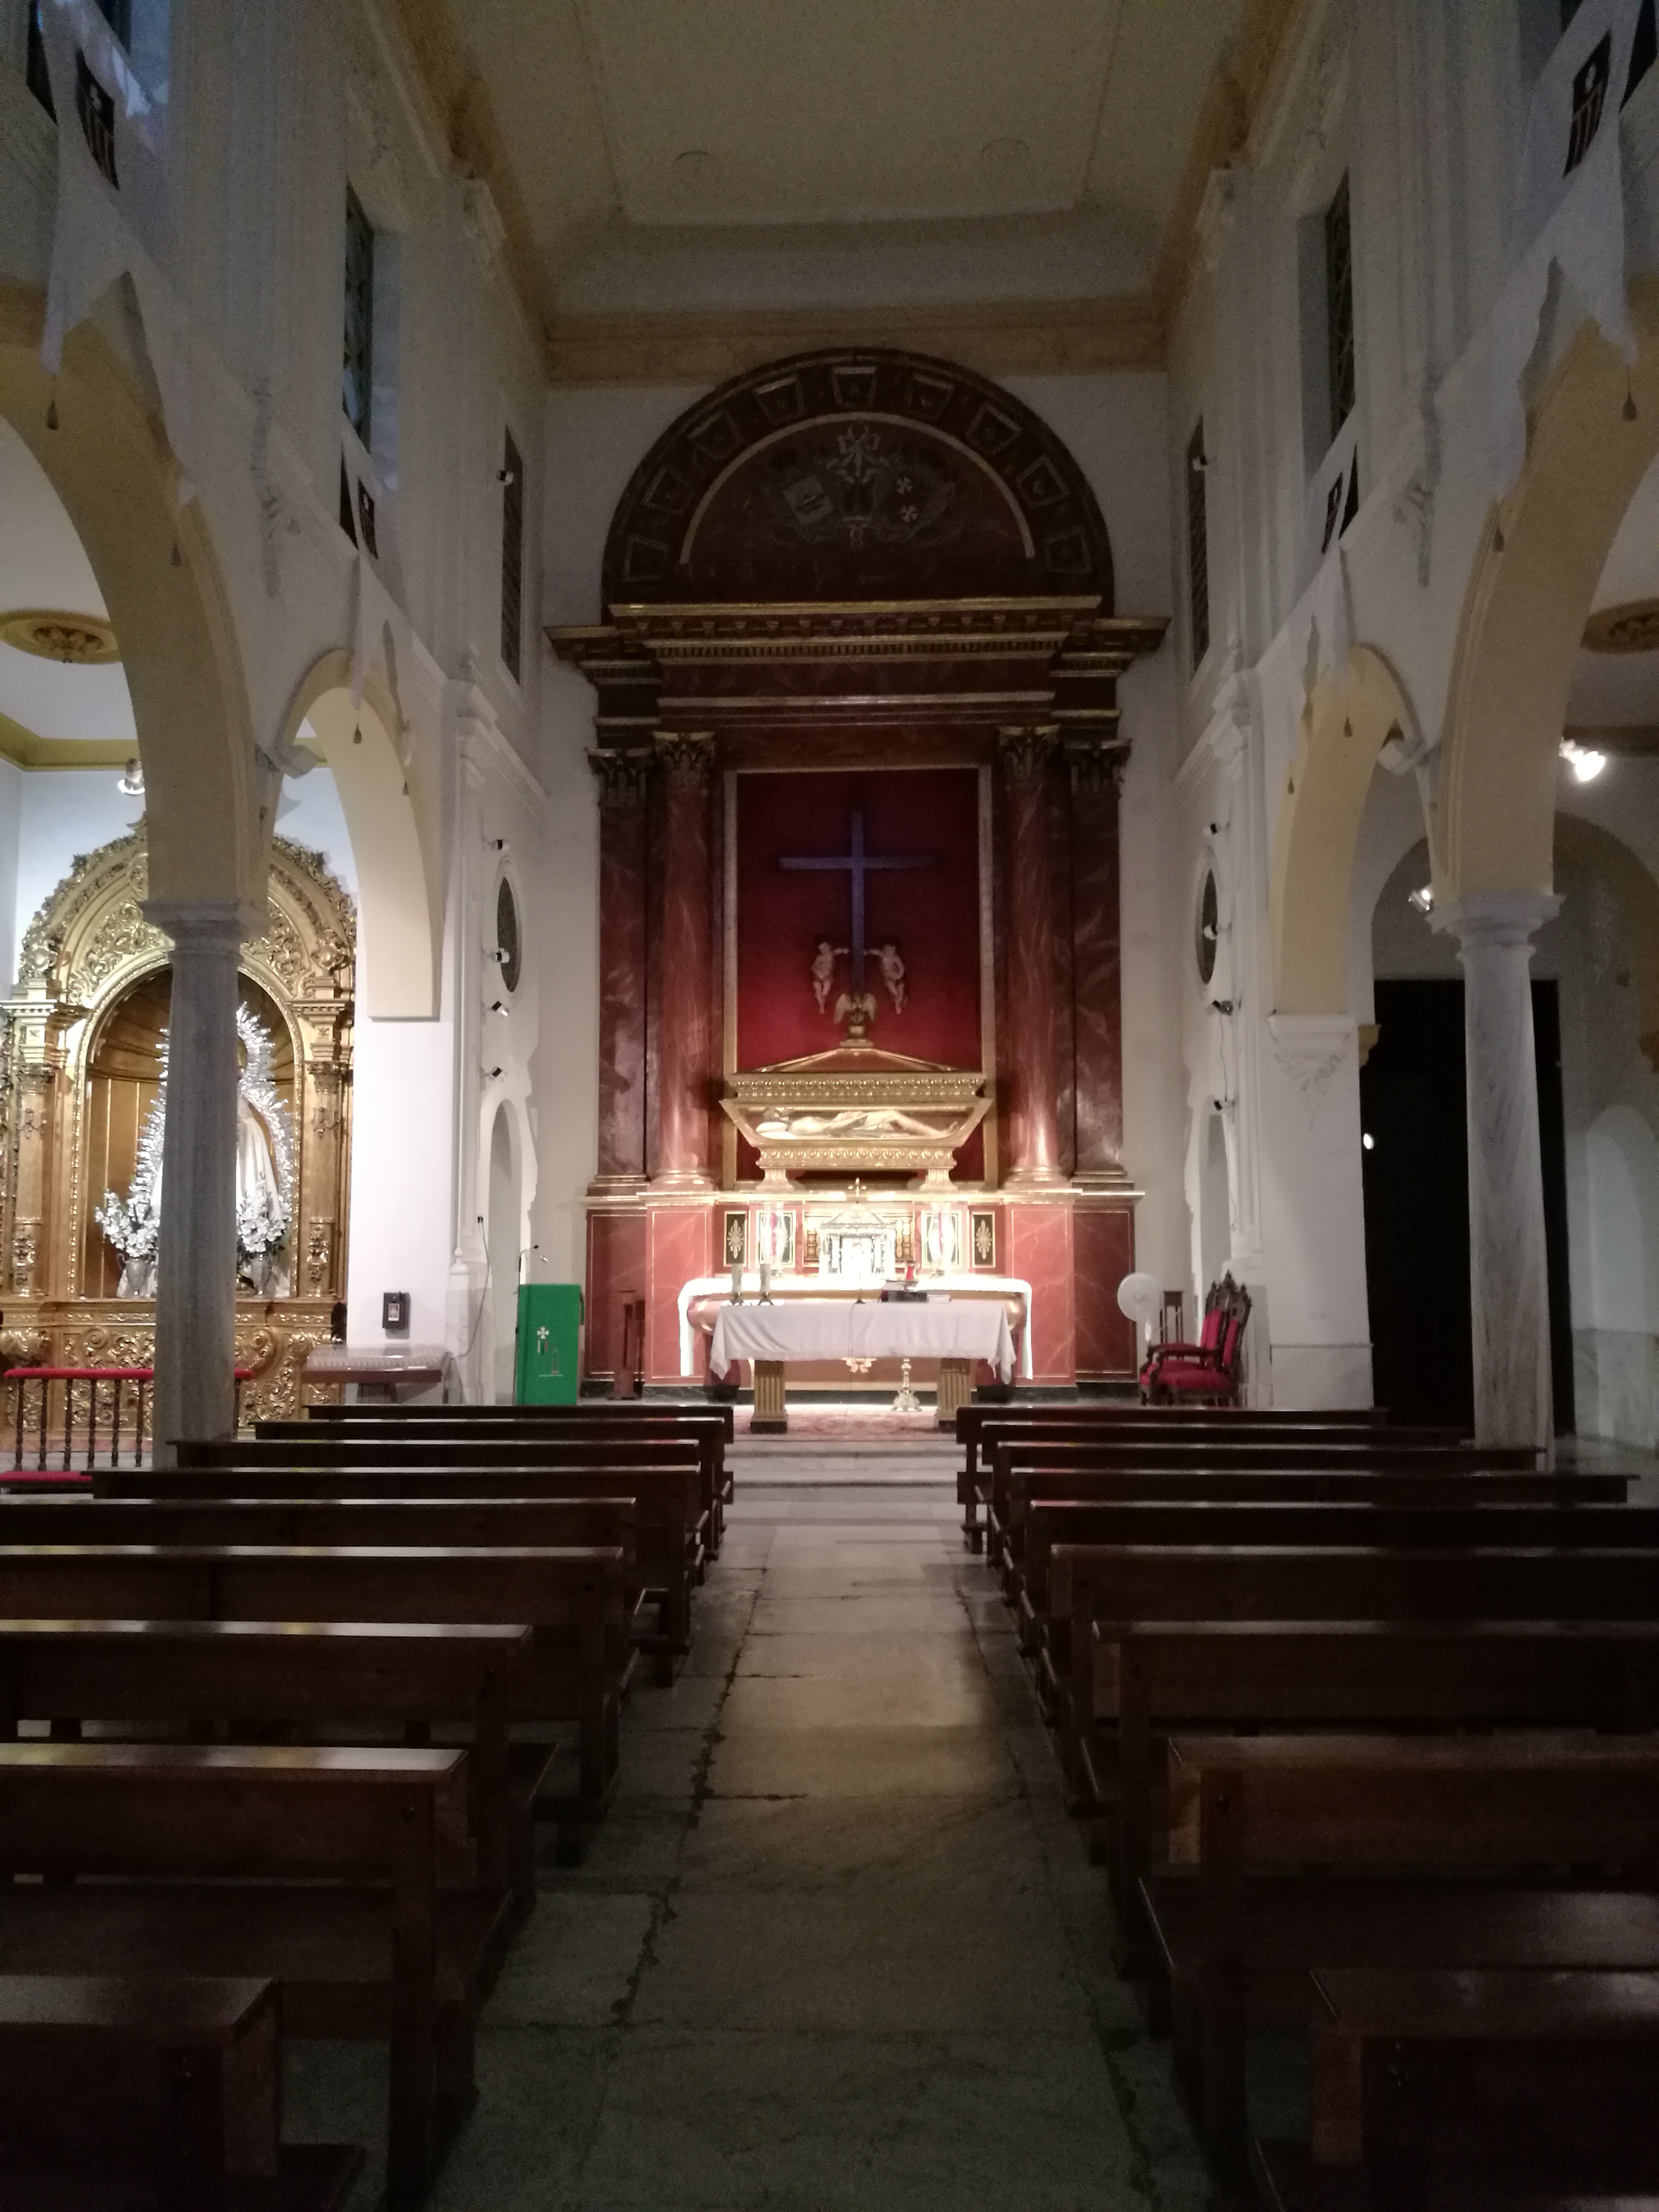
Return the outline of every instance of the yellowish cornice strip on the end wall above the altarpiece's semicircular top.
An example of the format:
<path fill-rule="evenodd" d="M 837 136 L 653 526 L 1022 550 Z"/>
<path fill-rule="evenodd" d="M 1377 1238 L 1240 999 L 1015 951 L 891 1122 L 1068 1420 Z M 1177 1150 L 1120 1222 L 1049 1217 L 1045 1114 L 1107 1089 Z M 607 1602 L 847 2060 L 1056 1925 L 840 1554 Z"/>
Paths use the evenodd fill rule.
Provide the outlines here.
<path fill-rule="evenodd" d="M 564 314 L 549 330 L 549 376 L 555 385 L 721 383 L 843 345 L 942 354 L 984 376 L 1150 369 L 1164 365 L 1164 316 L 1144 292 L 940 307 Z"/>

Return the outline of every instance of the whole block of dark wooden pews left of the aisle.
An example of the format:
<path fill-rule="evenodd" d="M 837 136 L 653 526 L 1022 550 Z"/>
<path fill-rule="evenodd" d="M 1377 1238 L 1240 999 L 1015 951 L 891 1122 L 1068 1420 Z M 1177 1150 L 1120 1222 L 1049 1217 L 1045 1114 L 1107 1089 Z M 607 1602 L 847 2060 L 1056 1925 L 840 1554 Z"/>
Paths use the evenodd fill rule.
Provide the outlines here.
<path fill-rule="evenodd" d="M 420 2199 L 538 1827 L 580 1856 L 690 1650 L 728 1436 L 361 1407 L 0 1498 L 7 2212 L 327 2212 L 361 2152 L 281 2143 L 283 2037 L 389 2044 Z"/>

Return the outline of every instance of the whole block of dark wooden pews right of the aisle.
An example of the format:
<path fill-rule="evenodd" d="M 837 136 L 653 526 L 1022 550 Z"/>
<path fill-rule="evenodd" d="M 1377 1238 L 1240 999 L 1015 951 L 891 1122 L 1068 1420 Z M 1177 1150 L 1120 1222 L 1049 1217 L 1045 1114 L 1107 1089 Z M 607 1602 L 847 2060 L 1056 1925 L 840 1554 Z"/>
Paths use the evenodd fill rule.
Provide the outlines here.
<path fill-rule="evenodd" d="M 1223 2194 L 1659 2203 L 1659 1511 L 1376 1416 L 958 1436 Z M 1301 2139 L 1252 2137 L 1267 2033 L 1307 2044 Z"/>

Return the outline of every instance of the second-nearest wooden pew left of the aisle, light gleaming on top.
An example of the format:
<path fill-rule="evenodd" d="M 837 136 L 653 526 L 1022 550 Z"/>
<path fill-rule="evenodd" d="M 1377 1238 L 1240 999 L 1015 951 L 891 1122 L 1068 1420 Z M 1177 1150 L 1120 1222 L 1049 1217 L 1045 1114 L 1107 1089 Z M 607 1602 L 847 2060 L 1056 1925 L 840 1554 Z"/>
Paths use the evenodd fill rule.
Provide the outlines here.
<path fill-rule="evenodd" d="M 0 1743 L 15 1973 L 268 1975 L 283 2033 L 392 2044 L 387 2199 L 471 2095 L 487 1942 L 465 1752 Z M 113 1876 L 115 1880 L 82 1880 Z"/>

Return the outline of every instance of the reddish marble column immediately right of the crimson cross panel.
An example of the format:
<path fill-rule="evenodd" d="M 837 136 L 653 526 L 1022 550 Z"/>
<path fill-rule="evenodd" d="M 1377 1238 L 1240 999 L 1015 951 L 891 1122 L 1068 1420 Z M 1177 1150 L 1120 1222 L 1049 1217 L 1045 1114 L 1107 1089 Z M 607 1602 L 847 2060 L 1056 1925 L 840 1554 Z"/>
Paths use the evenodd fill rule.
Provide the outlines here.
<path fill-rule="evenodd" d="M 1055 1084 L 1055 896 L 1048 852 L 1048 763 L 1053 728 L 1006 728 L 998 737 L 1006 836 L 1006 1046 L 1013 1075 L 1009 1190 L 1062 1188 Z"/>

